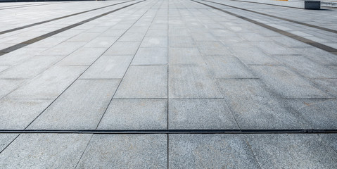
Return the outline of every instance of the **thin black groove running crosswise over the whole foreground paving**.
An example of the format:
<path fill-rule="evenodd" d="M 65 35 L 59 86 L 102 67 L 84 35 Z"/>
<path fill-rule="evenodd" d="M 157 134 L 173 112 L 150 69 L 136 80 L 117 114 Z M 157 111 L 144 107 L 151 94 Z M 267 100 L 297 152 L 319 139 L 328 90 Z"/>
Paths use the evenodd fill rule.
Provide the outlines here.
<path fill-rule="evenodd" d="M 0 133 L 63 133 L 63 134 L 319 134 L 335 133 L 337 129 L 316 130 L 0 130 Z"/>

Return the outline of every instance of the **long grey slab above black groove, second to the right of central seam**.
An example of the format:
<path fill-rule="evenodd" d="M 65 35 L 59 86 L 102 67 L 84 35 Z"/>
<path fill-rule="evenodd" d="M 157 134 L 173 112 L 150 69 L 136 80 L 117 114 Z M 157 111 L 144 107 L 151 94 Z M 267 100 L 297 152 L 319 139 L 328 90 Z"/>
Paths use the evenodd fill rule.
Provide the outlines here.
<path fill-rule="evenodd" d="M 217 80 L 241 129 L 301 129 L 308 125 L 270 95 L 260 80 Z"/>

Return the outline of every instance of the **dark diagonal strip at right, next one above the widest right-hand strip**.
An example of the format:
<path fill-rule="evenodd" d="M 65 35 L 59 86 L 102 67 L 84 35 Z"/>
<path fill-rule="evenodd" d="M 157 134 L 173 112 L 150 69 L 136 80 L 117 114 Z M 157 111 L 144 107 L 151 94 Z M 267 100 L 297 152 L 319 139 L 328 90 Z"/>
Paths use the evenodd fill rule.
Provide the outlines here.
<path fill-rule="evenodd" d="M 201 0 L 201 1 L 207 1 L 207 0 Z M 236 0 L 230 0 L 230 1 L 236 1 Z M 222 6 L 229 6 L 229 5 L 217 3 L 217 2 L 214 2 L 214 1 L 208 1 L 208 2 L 214 3 L 214 4 L 220 4 Z M 229 6 L 229 7 L 231 7 L 231 8 L 237 8 L 237 9 L 240 9 L 240 10 L 243 10 L 243 11 L 252 12 L 252 13 L 257 13 L 257 14 L 260 14 L 260 15 L 266 15 L 266 16 L 269 16 L 269 17 L 272 17 L 272 18 L 276 18 L 276 19 L 279 19 L 279 20 L 286 20 L 286 21 L 291 22 L 291 23 L 297 23 L 299 25 L 305 25 L 307 27 L 313 27 L 313 28 L 316 28 L 316 29 L 319 29 L 319 30 L 324 30 L 324 31 L 327 31 L 327 32 L 332 32 L 332 33 L 336 33 L 337 34 L 337 30 L 331 30 L 331 29 L 326 28 L 326 27 L 320 27 L 320 26 L 317 26 L 317 25 L 311 25 L 311 24 L 308 24 L 308 23 L 302 23 L 302 22 L 299 22 L 299 21 L 296 21 L 296 20 L 291 20 L 291 19 L 287 19 L 287 18 L 281 18 L 279 16 L 269 15 L 267 13 L 260 13 L 260 12 L 257 12 L 257 11 L 251 11 L 249 9 L 239 8 L 239 7 L 236 7 L 236 6 Z"/>

